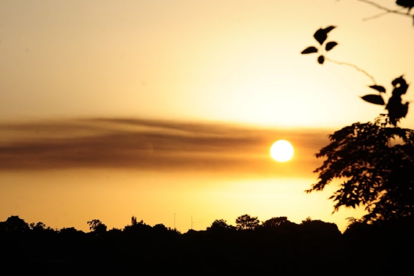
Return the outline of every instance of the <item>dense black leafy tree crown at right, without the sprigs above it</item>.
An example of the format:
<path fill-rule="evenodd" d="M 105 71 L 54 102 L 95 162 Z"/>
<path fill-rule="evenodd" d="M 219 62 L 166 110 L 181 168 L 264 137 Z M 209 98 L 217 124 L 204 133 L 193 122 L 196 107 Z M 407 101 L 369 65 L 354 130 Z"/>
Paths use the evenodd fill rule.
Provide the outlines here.
<path fill-rule="evenodd" d="M 306 192 L 320 191 L 333 179 L 343 180 L 330 197 L 339 207 L 362 205 L 365 221 L 412 216 L 414 211 L 414 131 L 355 123 L 329 135 L 319 181 Z M 398 143 L 396 143 L 396 141 Z"/>

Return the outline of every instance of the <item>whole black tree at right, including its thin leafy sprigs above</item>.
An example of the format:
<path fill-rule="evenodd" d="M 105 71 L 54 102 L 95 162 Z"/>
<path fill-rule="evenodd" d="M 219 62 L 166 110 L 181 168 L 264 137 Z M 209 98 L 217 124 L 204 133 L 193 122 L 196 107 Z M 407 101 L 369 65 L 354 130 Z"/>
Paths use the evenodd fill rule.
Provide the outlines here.
<path fill-rule="evenodd" d="M 363 1 L 377 8 L 383 7 Z M 397 1 L 397 5 L 408 8 L 414 1 Z M 391 10 L 385 9 L 388 13 Z M 386 88 L 378 85 L 375 79 L 358 66 L 346 62 L 337 62 L 326 58 L 326 52 L 336 46 L 336 42 L 324 45 L 328 33 L 334 26 L 318 29 L 314 38 L 320 44 L 319 49 L 308 46 L 301 53 L 320 52 L 318 63 L 325 60 L 337 64 L 349 65 L 370 77 L 374 84 L 369 87 L 377 94 L 365 95 L 362 100 L 384 106 L 387 114 L 380 114 L 373 123 L 354 123 L 329 135 L 330 144 L 316 154 L 324 158 L 323 164 L 314 170 L 319 174 L 307 193 L 321 191 L 334 179 L 341 180 L 338 190 L 329 198 L 334 201 L 334 211 L 341 206 L 362 206 L 367 215 L 364 222 L 389 221 L 412 218 L 414 213 L 414 131 L 397 126 L 408 112 L 408 102 L 403 103 L 401 96 L 407 92 L 408 84 L 403 75 L 391 81 L 392 92 L 386 102 Z M 328 47 L 328 44 L 333 45 Z M 335 44 L 334 44 L 335 43 Z M 325 50 L 325 51 L 324 51 Z"/>

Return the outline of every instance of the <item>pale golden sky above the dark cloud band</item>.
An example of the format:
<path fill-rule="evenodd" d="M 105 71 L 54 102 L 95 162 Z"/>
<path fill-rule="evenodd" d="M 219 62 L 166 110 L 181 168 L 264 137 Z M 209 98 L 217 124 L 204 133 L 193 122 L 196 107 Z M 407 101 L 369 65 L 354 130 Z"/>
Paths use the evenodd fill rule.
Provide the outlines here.
<path fill-rule="evenodd" d="M 368 77 L 300 52 L 335 25 L 332 59 L 388 89 L 403 73 L 413 79 L 412 19 L 363 21 L 378 13 L 356 0 L 2 1 L 1 118 L 372 120 L 382 108 L 358 98 L 372 92 Z"/>

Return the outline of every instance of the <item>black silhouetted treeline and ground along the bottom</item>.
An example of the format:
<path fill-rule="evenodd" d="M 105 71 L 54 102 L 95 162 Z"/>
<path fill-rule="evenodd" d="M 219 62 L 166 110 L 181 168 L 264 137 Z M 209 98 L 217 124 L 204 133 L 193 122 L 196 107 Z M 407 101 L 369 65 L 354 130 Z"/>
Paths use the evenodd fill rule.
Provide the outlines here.
<path fill-rule="evenodd" d="M 262 223 L 254 229 L 215 223 L 184 234 L 143 222 L 85 233 L 29 226 L 14 216 L 0 222 L 0 263 L 3 271 L 30 275 L 413 273 L 414 228 L 408 221 L 355 222 L 343 234 L 319 220 Z"/>

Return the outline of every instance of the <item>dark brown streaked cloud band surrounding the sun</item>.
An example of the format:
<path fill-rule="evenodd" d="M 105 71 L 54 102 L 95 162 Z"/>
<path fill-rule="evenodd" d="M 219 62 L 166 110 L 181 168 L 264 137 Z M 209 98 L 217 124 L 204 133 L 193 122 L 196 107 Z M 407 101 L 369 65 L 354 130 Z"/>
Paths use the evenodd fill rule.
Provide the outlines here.
<path fill-rule="evenodd" d="M 135 119 L 85 119 L 0 125 L 0 170 L 135 168 L 225 173 L 301 174 L 327 132 L 253 129 L 225 124 Z M 290 139 L 297 156 L 278 164 L 275 139 Z"/>

